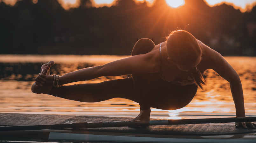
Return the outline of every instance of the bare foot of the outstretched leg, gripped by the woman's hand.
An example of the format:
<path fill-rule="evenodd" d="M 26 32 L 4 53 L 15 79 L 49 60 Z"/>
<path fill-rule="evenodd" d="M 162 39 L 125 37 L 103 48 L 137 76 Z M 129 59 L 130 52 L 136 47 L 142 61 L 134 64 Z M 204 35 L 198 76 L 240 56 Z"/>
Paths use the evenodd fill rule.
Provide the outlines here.
<path fill-rule="evenodd" d="M 45 75 L 50 75 L 50 67 L 54 64 L 55 64 L 54 61 L 50 61 L 50 62 L 42 65 L 40 73 L 45 74 Z M 39 87 L 36 85 L 36 83 L 34 83 L 31 87 L 31 91 L 33 93 L 37 93 L 37 94 L 40 94 L 40 93 L 48 94 L 48 93 L 50 93 L 51 89 L 52 89 L 52 87 L 45 87 L 45 88 Z"/>

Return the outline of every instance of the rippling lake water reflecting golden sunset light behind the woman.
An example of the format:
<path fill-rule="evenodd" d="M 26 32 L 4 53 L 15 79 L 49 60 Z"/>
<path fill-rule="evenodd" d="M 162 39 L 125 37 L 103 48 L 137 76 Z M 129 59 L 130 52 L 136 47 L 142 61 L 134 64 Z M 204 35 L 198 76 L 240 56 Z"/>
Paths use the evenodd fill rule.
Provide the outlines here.
<path fill-rule="evenodd" d="M 51 74 L 63 75 L 126 57 L 128 56 L 0 55 L 0 112 L 136 117 L 140 112 L 140 106 L 128 99 L 114 98 L 97 103 L 85 103 L 31 92 L 31 85 L 40 72 L 41 65 L 50 60 L 56 63 L 51 68 Z M 256 57 L 224 58 L 240 76 L 246 116 L 256 116 Z M 211 69 L 205 71 L 204 75 L 207 84 L 204 86 L 205 90 L 198 89 L 190 104 L 178 110 L 151 108 L 150 117 L 160 119 L 235 117 L 229 83 Z M 130 76 L 100 77 L 72 84 L 99 83 Z"/>

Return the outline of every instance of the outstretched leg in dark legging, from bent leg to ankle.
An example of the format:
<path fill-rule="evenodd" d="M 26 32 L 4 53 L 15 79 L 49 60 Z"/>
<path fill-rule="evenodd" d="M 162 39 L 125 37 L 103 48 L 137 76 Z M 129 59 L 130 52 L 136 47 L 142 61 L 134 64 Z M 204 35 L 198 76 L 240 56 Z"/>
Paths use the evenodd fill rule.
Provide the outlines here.
<path fill-rule="evenodd" d="M 80 102 L 100 102 L 112 98 L 125 98 L 138 103 L 132 77 L 93 84 L 61 85 L 52 87 L 50 95 Z"/>

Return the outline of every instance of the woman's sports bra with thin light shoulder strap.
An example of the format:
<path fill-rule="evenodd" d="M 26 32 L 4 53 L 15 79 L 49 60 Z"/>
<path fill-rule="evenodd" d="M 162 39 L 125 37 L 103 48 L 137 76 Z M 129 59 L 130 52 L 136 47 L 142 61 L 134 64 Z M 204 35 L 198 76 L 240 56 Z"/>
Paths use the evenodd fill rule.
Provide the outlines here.
<path fill-rule="evenodd" d="M 163 43 L 163 42 L 162 42 L 162 43 Z M 160 70 L 159 70 L 158 72 L 159 72 L 160 77 L 161 77 L 164 81 L 170 82 L 170 83 L 175 84 L 175 85 L 184 86 L 184 85 L 192 85 L 192 84 L 194 84 L 195 81 L 194 81 L 194 76 L 193 76 L 192 73 L 188 76 L 187 79 L 182 80 L 182 81 L 168 81 L 168 80 L 164 77 L 163 72 L 162 72 L 162 70 L 161 70 L 161 65 L 162 65 L 161 46 L 162 46 L 162 43 L 160 44 L 160 49 L 159 49 L 159 51 L 160 51 L 160 56 L 161 56 L 161 64 L 160 64 Z"/>

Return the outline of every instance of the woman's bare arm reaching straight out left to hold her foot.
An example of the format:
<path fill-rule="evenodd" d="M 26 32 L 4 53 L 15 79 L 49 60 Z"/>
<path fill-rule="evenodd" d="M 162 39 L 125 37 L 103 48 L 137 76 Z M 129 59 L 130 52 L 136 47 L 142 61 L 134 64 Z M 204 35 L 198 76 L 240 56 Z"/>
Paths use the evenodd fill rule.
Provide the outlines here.
<path fill-rule="evenodd" d="M 154 52 L 149 52 L 147 54 L 123 58 L 105 65 L 84 68 L 78 71 L 66 73 L 59 77 L 59 81 L 61 85 L 64 85 L 67 83 L 90 80 L 102 76 L 120 76 L 131 73 L 156 73 L 160 68 L 160 64 L 157 59 L 159 57 L 157 56 L 159 55 L 154 54 Z M 46 79 L 45 81 L 42 81 L 44 82 L 41 84 L 42 87 L 46 87 L 47 85 L 52 86 L 53 76 L 40 74 L 40 77 Z"/>

